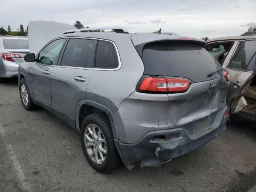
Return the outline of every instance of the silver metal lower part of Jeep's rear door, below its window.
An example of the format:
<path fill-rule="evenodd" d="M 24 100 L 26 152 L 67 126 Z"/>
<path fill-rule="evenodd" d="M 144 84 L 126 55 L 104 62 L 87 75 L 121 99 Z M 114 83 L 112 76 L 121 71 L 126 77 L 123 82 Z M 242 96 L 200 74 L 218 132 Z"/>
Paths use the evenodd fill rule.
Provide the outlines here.
<path fill-rule="evenodd" d="M 75 127 L 76 107 L 79 100 L 85 100 L 86 88 L 92 74 L 92 69 L 56 66 L 51 80 L 52 110 L 56 116 L 71 127 Z M 74 77 L 85 78 L 84 82 Z"/>

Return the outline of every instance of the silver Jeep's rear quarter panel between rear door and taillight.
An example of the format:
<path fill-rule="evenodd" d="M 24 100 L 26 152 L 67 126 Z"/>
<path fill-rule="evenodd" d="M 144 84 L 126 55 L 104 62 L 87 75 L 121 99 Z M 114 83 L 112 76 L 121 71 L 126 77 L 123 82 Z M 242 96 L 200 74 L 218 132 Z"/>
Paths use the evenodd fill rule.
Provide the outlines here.
<path fill-rule="evenodd" d="M 114 40 L 120 55 L 120 69 L 94 69 L 86 90 L 86 99 L 114 110 L 135 91 L 144 66 L 132 41 L 117 34 Z"/>

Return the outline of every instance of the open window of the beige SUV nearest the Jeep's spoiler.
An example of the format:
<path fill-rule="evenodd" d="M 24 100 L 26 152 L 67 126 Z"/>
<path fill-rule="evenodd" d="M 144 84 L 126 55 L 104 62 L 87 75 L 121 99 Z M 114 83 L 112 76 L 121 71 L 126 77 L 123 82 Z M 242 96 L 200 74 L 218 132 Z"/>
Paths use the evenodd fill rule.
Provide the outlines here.
<path fill-rule="evenodd" d="M 222 65 L 233 42 L 218 42 L 206 45 L 205 49 Z"/>

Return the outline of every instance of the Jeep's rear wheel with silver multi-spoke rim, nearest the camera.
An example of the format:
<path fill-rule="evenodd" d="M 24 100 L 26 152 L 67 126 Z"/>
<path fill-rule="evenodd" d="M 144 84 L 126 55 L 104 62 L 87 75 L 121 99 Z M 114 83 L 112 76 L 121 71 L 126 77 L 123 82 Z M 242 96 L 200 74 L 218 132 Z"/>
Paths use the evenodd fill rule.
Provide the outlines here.
<path fill-rule="evenodd" d="M 104 114 L 94 113 L 84 119 L 81 144 L 87 161 L 95 170 L 110 173 L 120 166 L 110 121 Z"/>

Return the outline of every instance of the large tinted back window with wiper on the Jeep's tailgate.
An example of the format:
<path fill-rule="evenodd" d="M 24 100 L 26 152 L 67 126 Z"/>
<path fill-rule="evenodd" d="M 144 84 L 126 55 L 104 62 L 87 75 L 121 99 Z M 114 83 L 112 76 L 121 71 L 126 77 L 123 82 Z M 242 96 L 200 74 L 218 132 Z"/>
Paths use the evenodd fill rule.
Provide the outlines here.
<path fill-rule="evenodd" d="M 185 77 L 193 82 L 220 78 L 222 70 L 210 78 L 208 74 L 222 66 L 203 48 L 188 42 L 155 42 L 144 46 L 144 74 Z"/>

